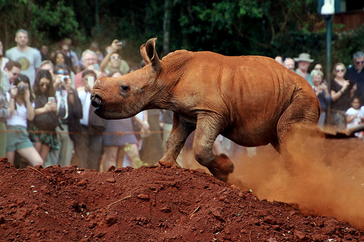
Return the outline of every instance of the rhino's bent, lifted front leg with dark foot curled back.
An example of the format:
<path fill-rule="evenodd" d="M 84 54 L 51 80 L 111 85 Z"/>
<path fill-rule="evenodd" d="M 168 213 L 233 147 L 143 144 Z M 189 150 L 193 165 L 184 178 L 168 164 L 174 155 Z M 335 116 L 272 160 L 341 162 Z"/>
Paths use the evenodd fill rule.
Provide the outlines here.
<path fill-rule="evenodd" d="M 219 121 L 208 116 L 199 117 L 193 141 L 193 153 L 199 164 L 206 166 L 217 179 L 226 182 L 234 165 L 226 154 L 215 155 L 212 151 L 220 129 Z"/>

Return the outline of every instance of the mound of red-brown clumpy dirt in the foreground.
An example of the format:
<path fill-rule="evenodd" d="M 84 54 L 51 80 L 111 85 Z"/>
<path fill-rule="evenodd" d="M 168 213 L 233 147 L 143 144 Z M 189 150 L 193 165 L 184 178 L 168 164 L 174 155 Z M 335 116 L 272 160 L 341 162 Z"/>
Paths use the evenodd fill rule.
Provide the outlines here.
<path fill-rule="evenodd" d="M 1 241 L 364 241 L 364 230 L 258 199 L 203 170 L 17 169 L 0 162 Z"/>

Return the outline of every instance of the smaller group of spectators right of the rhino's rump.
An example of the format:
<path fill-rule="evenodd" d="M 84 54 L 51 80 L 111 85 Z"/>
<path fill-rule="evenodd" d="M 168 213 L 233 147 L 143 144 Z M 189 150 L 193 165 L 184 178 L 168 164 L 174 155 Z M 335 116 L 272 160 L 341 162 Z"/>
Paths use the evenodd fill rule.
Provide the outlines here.
<path fill-rule="evenodd" d="M 281 56 L 279 57 L 275 60 L 304 77 L 314 89 L 321 105 L 321 115 L 317 125 L 323 127 L 330 124 L 338 129 L 345 129 L 363 124 L 364 106 L 361 104 L 364 104 L 364 53 L 362 51 L 354 53 L 352 63 L 347 67 L 341 62 L 333 65 L 330 90 L 321 63 L 315 63 L 309 72 L 310 65 L 314 63 L 310 54 L 301 53 L 297 58 L 288 57 L 283 62 L 280 61 Z M 295 63 L 297 63 L 296 69 Z M 352 109 L 357 111 L 353 112 Z M 328 110 L 331 111 L 331 118 L 327 115 Z"/>

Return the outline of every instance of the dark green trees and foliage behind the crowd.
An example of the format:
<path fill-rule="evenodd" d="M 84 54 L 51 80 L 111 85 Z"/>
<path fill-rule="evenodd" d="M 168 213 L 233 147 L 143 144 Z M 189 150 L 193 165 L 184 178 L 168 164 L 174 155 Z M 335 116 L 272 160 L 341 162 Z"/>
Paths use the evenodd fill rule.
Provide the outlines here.
<path fill-rule="evenodd" d="M 1 40 L 15 45 L 19 28 L 29 30 L 31 45 L 56 43 L 64 37 L 85 49 L 91 41 L 103 46 L 127 40 L 122 55 L 139 63 L 139 47 L 158 36 L 162 53 L 165 0 L 0 0 Z M 3 14 L 5 13 L 5 14 Z M 99 16 L 97 25 L 96 15 Z M 210 50 L 224 55 L 296 57 L 308 52 L 325 64 L 326 30 L 316 0 L 173 0 L 170 48 Z M 351 63 L 364 46 L 364 27 L 342 32 L 334 25 L 332 62 Z M 341 32 L 340 32 L 341 31 Z M 161 56 L 162 57 L 162 56 Z"/>

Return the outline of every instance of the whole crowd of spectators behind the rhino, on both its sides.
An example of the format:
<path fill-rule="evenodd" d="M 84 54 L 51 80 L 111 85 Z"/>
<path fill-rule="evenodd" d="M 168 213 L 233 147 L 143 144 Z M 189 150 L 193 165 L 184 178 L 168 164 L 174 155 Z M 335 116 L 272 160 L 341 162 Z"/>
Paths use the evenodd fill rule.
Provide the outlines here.
<path fill-rule="evenodd" d="M 114 40 L 104 53 L 93 42 L 80 56 L 70 39 L 60 41 L 54 51 L 46 45 L 37 49 L 28 45 L 26 30 L 17 30 L 15 42 L 5 50 L 0 41 L 0 156 L 17 167 L 59 164 L 100 171 L 121 167 L 123 161 L 132 167 L 152 165 L 163 156 L 172 128 L 171 111 L 148 110 L 115 121 L 93 112 L 90 92 L 99 76 L 118 77 L 142 67 L 130 68 L 122 59 L 119 50 L 124 42 Z M 312 86 L 321 104 L 318 125 L 351 128 L 363 123 L 363 52 L 356 52 L 348 67 L 333 66 L 330 90 L 322 65 L 310 69 L 314 60 L 308 53 L 275 60 Z M 215 152 L 224 151 L 223 140 L 216 139 Z"/>

